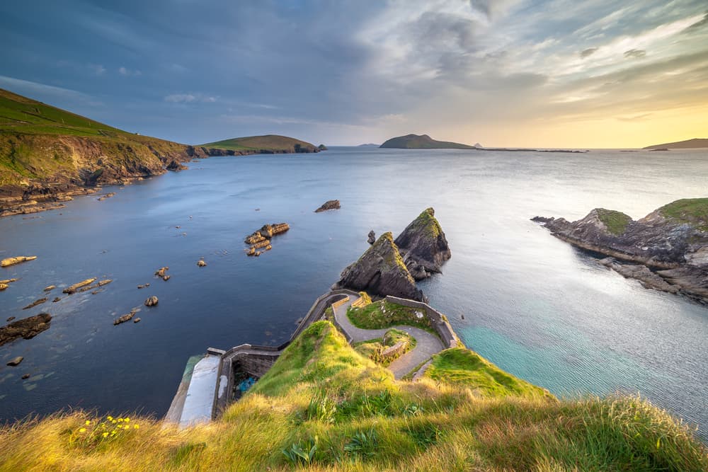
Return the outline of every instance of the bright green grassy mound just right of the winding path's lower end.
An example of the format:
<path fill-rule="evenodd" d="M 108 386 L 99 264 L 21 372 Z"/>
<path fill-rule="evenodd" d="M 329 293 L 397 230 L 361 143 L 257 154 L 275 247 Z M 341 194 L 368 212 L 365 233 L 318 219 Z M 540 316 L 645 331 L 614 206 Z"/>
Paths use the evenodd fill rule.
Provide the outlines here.
<path fill-rule="evenodd" d="M 425 376 L 436 381 L 474 388 L 480 396 L 527 396 L 552 400 L 547 391 L 504 372 L 464 347 L 453 347 L 433 356 Z"/>

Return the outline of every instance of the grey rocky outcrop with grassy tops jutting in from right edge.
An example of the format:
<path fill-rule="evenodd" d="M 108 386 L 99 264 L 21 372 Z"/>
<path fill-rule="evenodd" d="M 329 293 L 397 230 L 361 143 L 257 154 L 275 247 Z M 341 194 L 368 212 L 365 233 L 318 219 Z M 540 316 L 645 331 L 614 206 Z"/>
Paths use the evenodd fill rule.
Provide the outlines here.
<path fill-rule="evenodd" d="M 603 263 L 645 287 L 708 303 L 708 198 L 677 200 L 636 221 L 603 208 L 572 222 L 532 220 L 557 238 L 615 258 Z"/>

